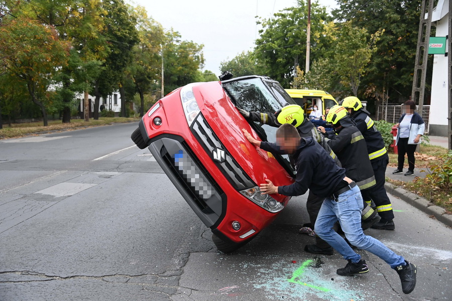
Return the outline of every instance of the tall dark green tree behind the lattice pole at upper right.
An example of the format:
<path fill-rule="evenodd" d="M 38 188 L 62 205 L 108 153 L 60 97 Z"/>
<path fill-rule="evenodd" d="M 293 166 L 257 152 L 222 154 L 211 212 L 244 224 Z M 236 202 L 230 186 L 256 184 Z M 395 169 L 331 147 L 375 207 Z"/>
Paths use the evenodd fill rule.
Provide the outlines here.
<path fill-rule="evenodd" d="M 338 21 L 350 21 L 370 33 L 385 30 L 366 68 L 364 85 L 374 87 L 370 95 L 377 98 L 372 91 L 381 94 L 386 90 L 390 99 L 406 100 L 411 95 L 421 1 L 351 0 L 338 5 L 333 11 Z"/>

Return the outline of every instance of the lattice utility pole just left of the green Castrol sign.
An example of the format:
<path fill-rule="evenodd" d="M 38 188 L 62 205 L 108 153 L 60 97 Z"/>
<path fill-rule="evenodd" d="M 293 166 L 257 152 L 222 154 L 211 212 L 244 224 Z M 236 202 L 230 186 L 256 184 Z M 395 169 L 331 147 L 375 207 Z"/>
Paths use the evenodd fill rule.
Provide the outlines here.
<path fill-rule="evenodd" d="M 434 0 L 428 0 L 428 18 L 425 19 L 427 0 L 422 0 L 422 7 L 419 19 L 419 32 L 417 35 L 416 60 L 414 62 L 414 77 L 411 90 L 411 100 L 419 104 L 418 113 L 422 116 L 422 106 L 424 104 L 425 76 L 427 73 L 428 40 L 430 39 L 431 15 L 433 12 Z M 421 53 L 423 51 L 423 53 Z M 422 61 L 421 61 L 422 58 Z"/>

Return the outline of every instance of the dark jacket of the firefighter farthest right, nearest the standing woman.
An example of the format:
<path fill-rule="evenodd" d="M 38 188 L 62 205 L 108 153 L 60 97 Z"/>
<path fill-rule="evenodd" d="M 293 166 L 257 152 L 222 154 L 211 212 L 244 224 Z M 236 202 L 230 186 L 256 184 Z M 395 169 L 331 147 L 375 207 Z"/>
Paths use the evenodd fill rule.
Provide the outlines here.
<path fill-rule="evenodd" d="M 367 152 L 371 161 L 378 161 L 388 157 L 385 141 L 374 125 L 374 120 L 369 117 L 370 113 L 364 109 L 359 109 L 352 114 L 352 120 L 361 131 L 366 140 Z"/>

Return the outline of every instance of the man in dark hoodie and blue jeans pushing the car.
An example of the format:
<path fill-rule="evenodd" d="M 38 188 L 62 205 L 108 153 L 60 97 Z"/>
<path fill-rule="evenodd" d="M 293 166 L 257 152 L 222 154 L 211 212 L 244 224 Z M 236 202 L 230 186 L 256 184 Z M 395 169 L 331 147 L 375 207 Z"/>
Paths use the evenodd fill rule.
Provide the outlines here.
<path fill-rule="evenodd" d="M 395 254 L 379 240 L 364 234 L 361 228 L 363 199 L 360 189 L 346 176 L 345 169 L 338 167 L 312 137 L 301 138 L 297 129 L 288 123 L 281 125 L 276 131 L 277 143 L 257 140 L 246 129 L 243 132 L 248 141 L 267 152 L 293 155 L 297 171 L 295 182 L 278 187 L 266 179 L 267 183 L 260 185 L 262 194 L 299 196 L 309 189 L 315 195 L 325 198 L 315 222 L 315 230 L 349 261 L 344 268 L 337 269 L 338 275 L 367 273 L 369 268 L 361 255 L 353 251 L 345 239 L 332 229 L 336 221 L 341 224 L 347 239 L 353 245 L 377 255 L 397 271 L 404 293 L 413 291 L 416 285 L 416 266 Z"/>

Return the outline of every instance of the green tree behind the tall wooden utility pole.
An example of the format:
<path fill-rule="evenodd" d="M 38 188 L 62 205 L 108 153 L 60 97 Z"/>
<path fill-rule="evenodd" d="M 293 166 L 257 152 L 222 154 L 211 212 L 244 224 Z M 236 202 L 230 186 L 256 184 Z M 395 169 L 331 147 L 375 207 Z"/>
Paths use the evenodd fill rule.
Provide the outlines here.
<path fill-rule="evenodd" d="M 324 7 L 311 4 L 311 60 L 322 58 L 330 47 L 330 40 L 323 35 L 325 26 L 332 21 Z M 298 0 L 297 6 L 277 13 L 273 18 L 258 21 L 262 25 L 260 38 L 256 40 L 255 55 L 265 66 L 264 74 L 289 87 L 295 67 L 305 69 L 307 5 Z M 298 63 L 297 63 L 298 62 Z"/>

